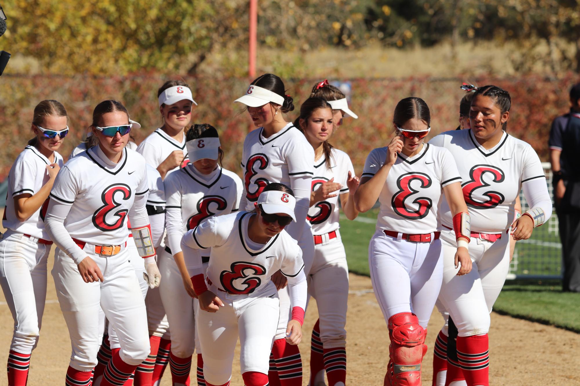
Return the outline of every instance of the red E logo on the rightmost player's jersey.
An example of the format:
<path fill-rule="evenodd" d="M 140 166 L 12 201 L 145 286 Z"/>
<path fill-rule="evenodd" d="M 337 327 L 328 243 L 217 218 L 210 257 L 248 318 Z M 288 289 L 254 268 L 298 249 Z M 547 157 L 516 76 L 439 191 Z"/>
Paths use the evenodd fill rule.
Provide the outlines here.
<path fill-rule="evenodd" d="M 484 175 L 489 175 L 491 182 L 503 182 L 505 179 L 505 173 L 503 170 L 496 166 L 491 165 L 476 165 L 469 171 L 470 181 L 467 181 L 461 185 L 463 189 L 463 198 L 468 207 L 480 208 L 480 209 L 491 209 L 495 208 L 499 204 L 503 203 L 505 197 L 495 190 L 487 190 L 483 193 L 477 193 L 478 196 L 487 197 L 485 201 L 476 201 L 474 199 L 475 190 L 478 188 L 485 188 L 491 186 L 489 183 L 483 181 Z"/>

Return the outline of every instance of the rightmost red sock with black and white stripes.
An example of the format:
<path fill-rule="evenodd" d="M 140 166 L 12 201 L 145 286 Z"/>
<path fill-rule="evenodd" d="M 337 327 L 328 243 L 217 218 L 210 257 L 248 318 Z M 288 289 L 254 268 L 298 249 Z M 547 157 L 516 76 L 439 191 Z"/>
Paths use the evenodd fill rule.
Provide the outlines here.
<path fill-rule="evenodd" d="M 457 337 L 457 359 L 468 385 L 489 386 L 489 348 L 487 334 Z"/>

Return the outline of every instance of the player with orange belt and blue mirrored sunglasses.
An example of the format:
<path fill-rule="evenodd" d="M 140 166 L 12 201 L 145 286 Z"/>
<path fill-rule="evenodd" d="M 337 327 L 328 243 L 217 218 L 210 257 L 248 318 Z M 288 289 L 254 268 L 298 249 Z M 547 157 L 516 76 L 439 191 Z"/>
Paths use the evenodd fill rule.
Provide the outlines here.
<path fill-rule="evenodd" d="M 125 107 L 101 102 L 93 111 L 92 128 L 99 146 L 74 157 L 59 172 L 50 192 L 46 230 L 58 247 L 52 275 L 73 346 L 65 382 L 90 383 L 103 334 L 102 308 L 121 345 L 103 374 L 101 385 L 109 386 L 128 380 L 150 350 L 145 303 L 126 250 L 127 218 L 151 288 L 159 285 L 160 274 L 145 208 L 145 162 L 125 149 L 131 131 Z"/>

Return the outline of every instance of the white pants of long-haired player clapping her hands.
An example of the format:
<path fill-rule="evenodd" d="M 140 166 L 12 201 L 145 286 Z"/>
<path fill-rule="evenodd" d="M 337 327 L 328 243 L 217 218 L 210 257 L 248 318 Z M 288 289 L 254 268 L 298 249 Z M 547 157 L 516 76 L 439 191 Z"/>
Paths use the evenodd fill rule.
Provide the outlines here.
<path fill-rule="evenodd" d="M 346 345 L 346 304 L 349 298 L 349 268 L 345 247 L 336 238 L 314 245 L 314 262 L 308 276 L 308 291 L 318 307 L 320 340 L 324 348 Z"/>

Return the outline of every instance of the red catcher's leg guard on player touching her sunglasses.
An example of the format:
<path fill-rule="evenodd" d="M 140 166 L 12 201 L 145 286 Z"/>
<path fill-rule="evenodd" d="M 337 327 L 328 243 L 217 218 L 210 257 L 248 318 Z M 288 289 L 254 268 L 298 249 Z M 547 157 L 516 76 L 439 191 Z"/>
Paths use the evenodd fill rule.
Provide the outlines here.
<path fill-rule="evenodd" d="M 412 313 L 389 318 L 389 353 L 393 362 L 393 386 L 421 386 L 421 362 L 425 349 L 425 330 Z M 426 347 L 426 346 L 425 346 Z"/>

